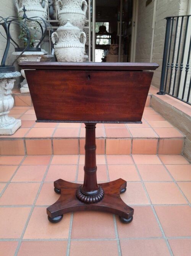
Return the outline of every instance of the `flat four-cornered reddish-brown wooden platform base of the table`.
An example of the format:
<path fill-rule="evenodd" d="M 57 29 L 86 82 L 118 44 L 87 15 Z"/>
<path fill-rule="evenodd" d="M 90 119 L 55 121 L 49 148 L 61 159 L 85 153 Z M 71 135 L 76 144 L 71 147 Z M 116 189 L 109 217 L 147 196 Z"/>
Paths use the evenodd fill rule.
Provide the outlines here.
<path fill-rule="evenodd" d="M 50 218 L 71 211 L 105 211 L 129 219 L 133 216 L 133 208 L 126 205 L 120 198 L 120 191 L 126 188 L 126 181 L 121 178 L 112 182 L 99 184 L 104 189 L 104 198 L 97 203 L 84 203 L 76 197 L 76 190 L 81 184 L 59 179 L 54 182 L 55 188 L 61 191 L 60 198 L 47 208 Z M 93 220 L 92 220 L 93 221 Z"/>

